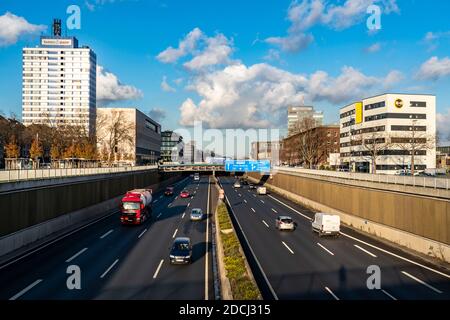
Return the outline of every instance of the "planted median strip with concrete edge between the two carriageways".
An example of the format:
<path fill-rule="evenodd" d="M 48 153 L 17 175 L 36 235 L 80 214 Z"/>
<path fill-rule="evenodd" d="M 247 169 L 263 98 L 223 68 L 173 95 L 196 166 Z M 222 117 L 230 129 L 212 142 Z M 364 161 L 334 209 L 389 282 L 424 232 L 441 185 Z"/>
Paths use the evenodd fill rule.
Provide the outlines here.
<path fill-rule="evenodd" d="M 219 188 L 217 184 L 216 188 Z M 222 300 L 261 300 L 258 285 L 222 199 L 217 202 L 214 224 Z"/>

